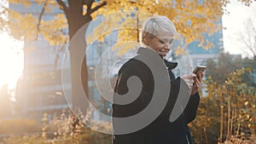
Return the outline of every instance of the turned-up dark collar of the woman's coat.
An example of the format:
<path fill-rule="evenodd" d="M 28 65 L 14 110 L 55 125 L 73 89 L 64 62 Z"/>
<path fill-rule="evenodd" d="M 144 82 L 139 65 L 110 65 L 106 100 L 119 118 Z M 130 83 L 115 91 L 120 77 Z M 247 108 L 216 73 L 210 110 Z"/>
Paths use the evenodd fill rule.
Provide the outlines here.
<path fill-rule="evenodd" d="M 153 49 L 143 48 L 143 47 L 140 47 L 137 50 L 137 54 L 158 55 Z M 163 59 L 162 55 L 160 55 L 160 57 Z M 166 59 L 164 59 L 164 62 L 165 62 L 166 66 L 168 67 L 169 70 L 172 70 L 175 67 L 177 67 L 177 62 L 171 62 L 171 61 L 168 61 Z"/>

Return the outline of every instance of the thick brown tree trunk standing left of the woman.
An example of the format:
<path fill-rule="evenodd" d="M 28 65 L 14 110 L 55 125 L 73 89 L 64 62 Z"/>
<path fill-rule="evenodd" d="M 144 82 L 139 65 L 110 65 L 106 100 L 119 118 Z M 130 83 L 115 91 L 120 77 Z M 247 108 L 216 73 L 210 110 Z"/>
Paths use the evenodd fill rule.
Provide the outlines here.
<path fill-rule="evenodd" d="M 85 32 L 86 23 L 90 22 L 90 15 L 83 15 L 83 4 L 77 1 L 70 1 L 67 11 L 67 21 L 69 30 L 69 52 L 72 81 L 72 103 L 73 110 L 80 110 L 86 114 L 88 103 L 84 96 L 89 96 L 88 72 L 85 56 Z M 80 29 L 84 26 L 82 29 Z M 80 30 L 79 30 L 80 29 Z M 79 32 L 78 32 L 79 31 Z M 76 32 L 78 32 L 76 34 Z M 75 35 L 76 34 L 76 35 Z"/>

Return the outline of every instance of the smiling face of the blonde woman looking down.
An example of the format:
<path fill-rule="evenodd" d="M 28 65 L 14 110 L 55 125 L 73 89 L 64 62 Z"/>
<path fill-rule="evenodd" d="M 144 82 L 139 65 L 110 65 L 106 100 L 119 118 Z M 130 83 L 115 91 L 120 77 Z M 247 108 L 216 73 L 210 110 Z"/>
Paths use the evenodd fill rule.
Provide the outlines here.
<path fill-rule="evenodd" d="M 148 46 L 154 49 L 158 54 L 162 56 L 166 56 L 169 50 L 171 49 L 171 43 L 173 38 L 170 37 L 168 39 L 160 39 L 158 37 L 152 37 L 150 40 L 148 39 Z"/>

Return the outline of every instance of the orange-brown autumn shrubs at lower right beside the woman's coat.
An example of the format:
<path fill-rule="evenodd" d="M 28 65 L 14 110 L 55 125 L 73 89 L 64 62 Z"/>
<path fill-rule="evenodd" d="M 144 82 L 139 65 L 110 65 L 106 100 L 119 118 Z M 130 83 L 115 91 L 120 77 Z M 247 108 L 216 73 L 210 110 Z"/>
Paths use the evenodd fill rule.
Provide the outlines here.
<path fill-rule="evenodd" d="M 190 124 L 195 143 L 223 143 L 232 137 L 255 135 L 255 96 L 252 85 L 243 81 L 249 68 L 230 72 L 222 84 L 207 78 L 207 97 L 201 97 L 195 120 Z"/>

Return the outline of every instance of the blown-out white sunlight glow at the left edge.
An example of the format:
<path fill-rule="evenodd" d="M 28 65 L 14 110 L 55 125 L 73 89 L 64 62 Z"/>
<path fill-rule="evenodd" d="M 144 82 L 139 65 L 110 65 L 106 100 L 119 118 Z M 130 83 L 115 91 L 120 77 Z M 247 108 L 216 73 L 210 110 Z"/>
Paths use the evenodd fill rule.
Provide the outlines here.
<path fill-rule="evenodd" d="M 15 89 L 16 83 L 23 71 L 23 42 L 12 39 L 7 34 L 0 34 L 0 88 L 8 84 L 9 89 Z"/>

